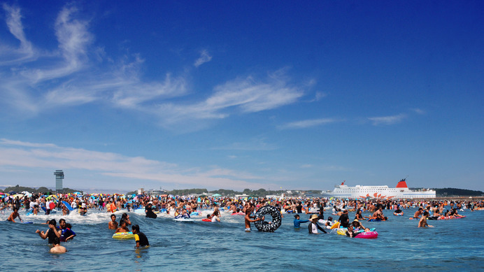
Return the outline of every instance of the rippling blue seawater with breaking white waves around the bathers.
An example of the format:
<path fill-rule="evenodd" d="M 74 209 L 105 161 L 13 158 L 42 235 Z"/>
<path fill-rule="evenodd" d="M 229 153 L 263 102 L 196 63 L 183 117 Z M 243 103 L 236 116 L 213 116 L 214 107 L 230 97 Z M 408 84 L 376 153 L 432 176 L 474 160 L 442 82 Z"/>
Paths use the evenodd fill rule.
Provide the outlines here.
<path fill-rule="evenodd" d="M 131 222 L 139 224 L 151 245 L 136 250 L 134 240 L 113 239 L 109 214 L 94 209 L 86 216 L 26 216 L 22 210 L 24 222 L 34 224 L 7 222 L 6 210 L 0 215 L 0 256 L 3 269 L 18 271 L 484 271 L 484 211 L 461 212 L 467 216 L 463 219 L 429 221 L 435 227 L 427 229 L 408 220 L 415 208 L 404 210 L 403 217 L 383 212 L 389 217 L 386 222 L 362 222 L 376 227 L 376 239 L 311 235 L 307 223 L 294 229 L 290 214 L 283 214 L 283 224 L 274 233 L 259 232 L 253 224 L 248 233 L 243 216 L 225 212 L 220 223 L 201 221 L 209 210 L 193 217 L 194 222 L 176 222 L 169 215 L 149 219 L 131 212 Z M 121 212 L 116 215 L 119 219 Z M 46 231 L 48 225 L 41 223 L 52 218 L 65 218 L 77 234 L 62 243 L 68 250 L 63 255 L 50 254 L 47 240 L 35 233 Z M 306 219 L 308 215 L 301 215 Z"/>

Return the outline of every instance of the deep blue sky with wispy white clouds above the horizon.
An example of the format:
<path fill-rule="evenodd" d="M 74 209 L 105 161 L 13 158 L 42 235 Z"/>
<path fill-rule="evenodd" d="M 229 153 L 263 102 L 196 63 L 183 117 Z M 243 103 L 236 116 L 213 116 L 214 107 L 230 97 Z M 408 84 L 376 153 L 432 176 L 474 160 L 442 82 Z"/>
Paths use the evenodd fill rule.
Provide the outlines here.
<path fill-rule="evenodd" d="M 6 1 L 0 185 L 484 190 L 482 1 Z"/>

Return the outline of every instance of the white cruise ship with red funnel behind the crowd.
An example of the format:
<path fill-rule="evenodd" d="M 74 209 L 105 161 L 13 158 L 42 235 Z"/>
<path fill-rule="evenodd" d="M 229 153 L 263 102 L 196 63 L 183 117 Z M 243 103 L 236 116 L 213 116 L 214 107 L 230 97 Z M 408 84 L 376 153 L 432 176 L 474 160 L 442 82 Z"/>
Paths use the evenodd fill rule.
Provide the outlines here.
<path fill-rule="evenodd" d="M 337 197 L 344 199 L 433 199 L 435 198 L 435 191 L 431 189 L 422 189 L 413 191 L 408 189 L 406 179 L 400 180 L 397 187 L 390 188 L 387 185 L 383 186 L 362 186 L 348 187 L 344 185 L 334 186 L 333 191 L 321 192 L 322 197 Z"/>

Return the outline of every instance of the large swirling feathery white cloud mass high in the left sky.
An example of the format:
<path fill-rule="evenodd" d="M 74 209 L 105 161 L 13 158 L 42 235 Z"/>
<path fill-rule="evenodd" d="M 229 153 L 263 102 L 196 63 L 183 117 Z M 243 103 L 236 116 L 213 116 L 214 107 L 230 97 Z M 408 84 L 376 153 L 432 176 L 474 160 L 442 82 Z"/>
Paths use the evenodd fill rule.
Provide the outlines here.
<path fill-rule="evenodd" d="M 10 32 L 20 40 L 21 47 L 33 48 L 23 32 L 20 8 L 3 5 L 3 9 L 9 14 Z M 213 120 L 279 108 L 304 96 L 302 87 L 287 76 L 287 69 L 280 69 L 262 79 L 246 76 L 228 80 L 213 87 L 202 100 L 188 97 L 191 103 L 174 102 L 169 99 L 190 94 L 187 76 L 166 73 L 159 80 L 145 80 L 141 73 L 144 59 L 137 54 L 121 57 L 119 62 L 110 59 L 105 66 L 96 65 L 106 58 L 106 52 L 94 45 L 89 28 L 90 20 L 83 19 L 76 6 L 66 5 L 54 24 L 57 50 L 39 50 L 42 53 L 38 59 L 42 61 L 0 71 L 0 104 L 13 108 L 8 113 L 34 116 L 51 108 L 100 101 L 113 108 L 150 115 L 166 128 L 197 130 Z M 194 65 L 210 60 L 211 55 L 202 50 Z M 313 84 L 313 80 L 309 81 Z"/>

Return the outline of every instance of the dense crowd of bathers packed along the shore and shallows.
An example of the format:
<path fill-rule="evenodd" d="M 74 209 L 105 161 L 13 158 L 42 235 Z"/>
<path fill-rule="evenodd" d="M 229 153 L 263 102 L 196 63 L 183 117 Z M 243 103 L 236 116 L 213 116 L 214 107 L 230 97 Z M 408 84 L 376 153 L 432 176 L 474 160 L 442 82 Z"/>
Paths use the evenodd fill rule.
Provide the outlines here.
<path fill-rule="evenodd" d="M 69 205 L 69 207 L 67 206 Z M 120 195 L 113 196 L 44 196 L 36 194 L 33 196 L 24 196 L 22 199 L 3 198 L 0 203 L 0 211 L 11 209 L 12 212 L 8 221 L 15 222 L 20 220 L 19 210 L 24 208 L 37 215 L 39 207 L 45 208 L 45 214 L 62 211 L 63 215 L 68 215 L 71 210 L 78 208 L 80 215 L 88 213 L 89 209 L 99 211 L 106 210 L 111 214 L 111 220 L 108 222 L 108 229 L 115 230 L 115 233 L 131 232 L 134 234 L 136 247 L 148 246 L 148 238 L 139 230 L 138 225 L 131 225 L 128 213 L 122 213 L 120 221 L 117 221 L 114 214 L 117 210 L 136 210 L 143 209 L 145 216 L 156 219 L 157 214 L 166 213 L 173 215 L 174 218 L 189 219 L 190 215 L 200 215 L 201 210 L 211 210 L 213 212 L 207 215 L 206 221 L 220 222 L 221 210 L 233 215 L 244 215 L 245 231 L 251 231 L 250 224 L 264 217 L 255 217 L 255 212 L 266 205 L 274 206 L 280 210 L 282 215 L 294 213 L 294 228 L 300 228 L 302 223 L 308 222 L 308 232 L 310 234 L 327 233 L 327 229 L 332 229 L 334 224 L 338 227 L 347 229 L 346 235 L 354 237 L 358 231 L 369 231 L 364 227 L 361 220 L 378 220 L 385 221 L 387 216 L 384 210 L 392 210 L 394 215 L 403 215 L 405 209 L 417 207 L 418 210 L 413 214 L 411 219 L 419 220 L 418 227 L 433 227 L 427 223 L 427 220 L 452 219 L 461 217 L 459 211 L 463 209 L 481 210 L 484 209 L 483 201 L 436 201 L 436 200 L 392 200 L 392 199 L 304 199 L 304 198 L 286 198 L 286 199 L 235 199 L 230 197 L 200 197 L 200 196 L 144 196 L 138 195 L 133 198 L 126 198 Z M 446 206 L 450 208 L 446 209 Z M 338 217 L 333 220 L 332 216 L 325 220 L 325 211 L 332 216 Z M 350 220 L 348 211 L 355 211 L 355 218 Z M 362 212 L 371 213 L 370 216 L 364 216 Z M 385 212 L 386 213 L 386 212 Z M 309 220 L 301 220 L 300 215 L 309 215 Z M 59 227 L 55 220 L 46 222 L 49 228 L 46 231 L 37 230 L 36 233 L 43 239 L 48 239 L 52 244 L 51 252 L 62 253 L 66 248 L 60 245 L 60 242 L 66 242 L 73 239 L 76 233 L 72 231 L 71 225 L 66 220 L 59 220 Z"/>

